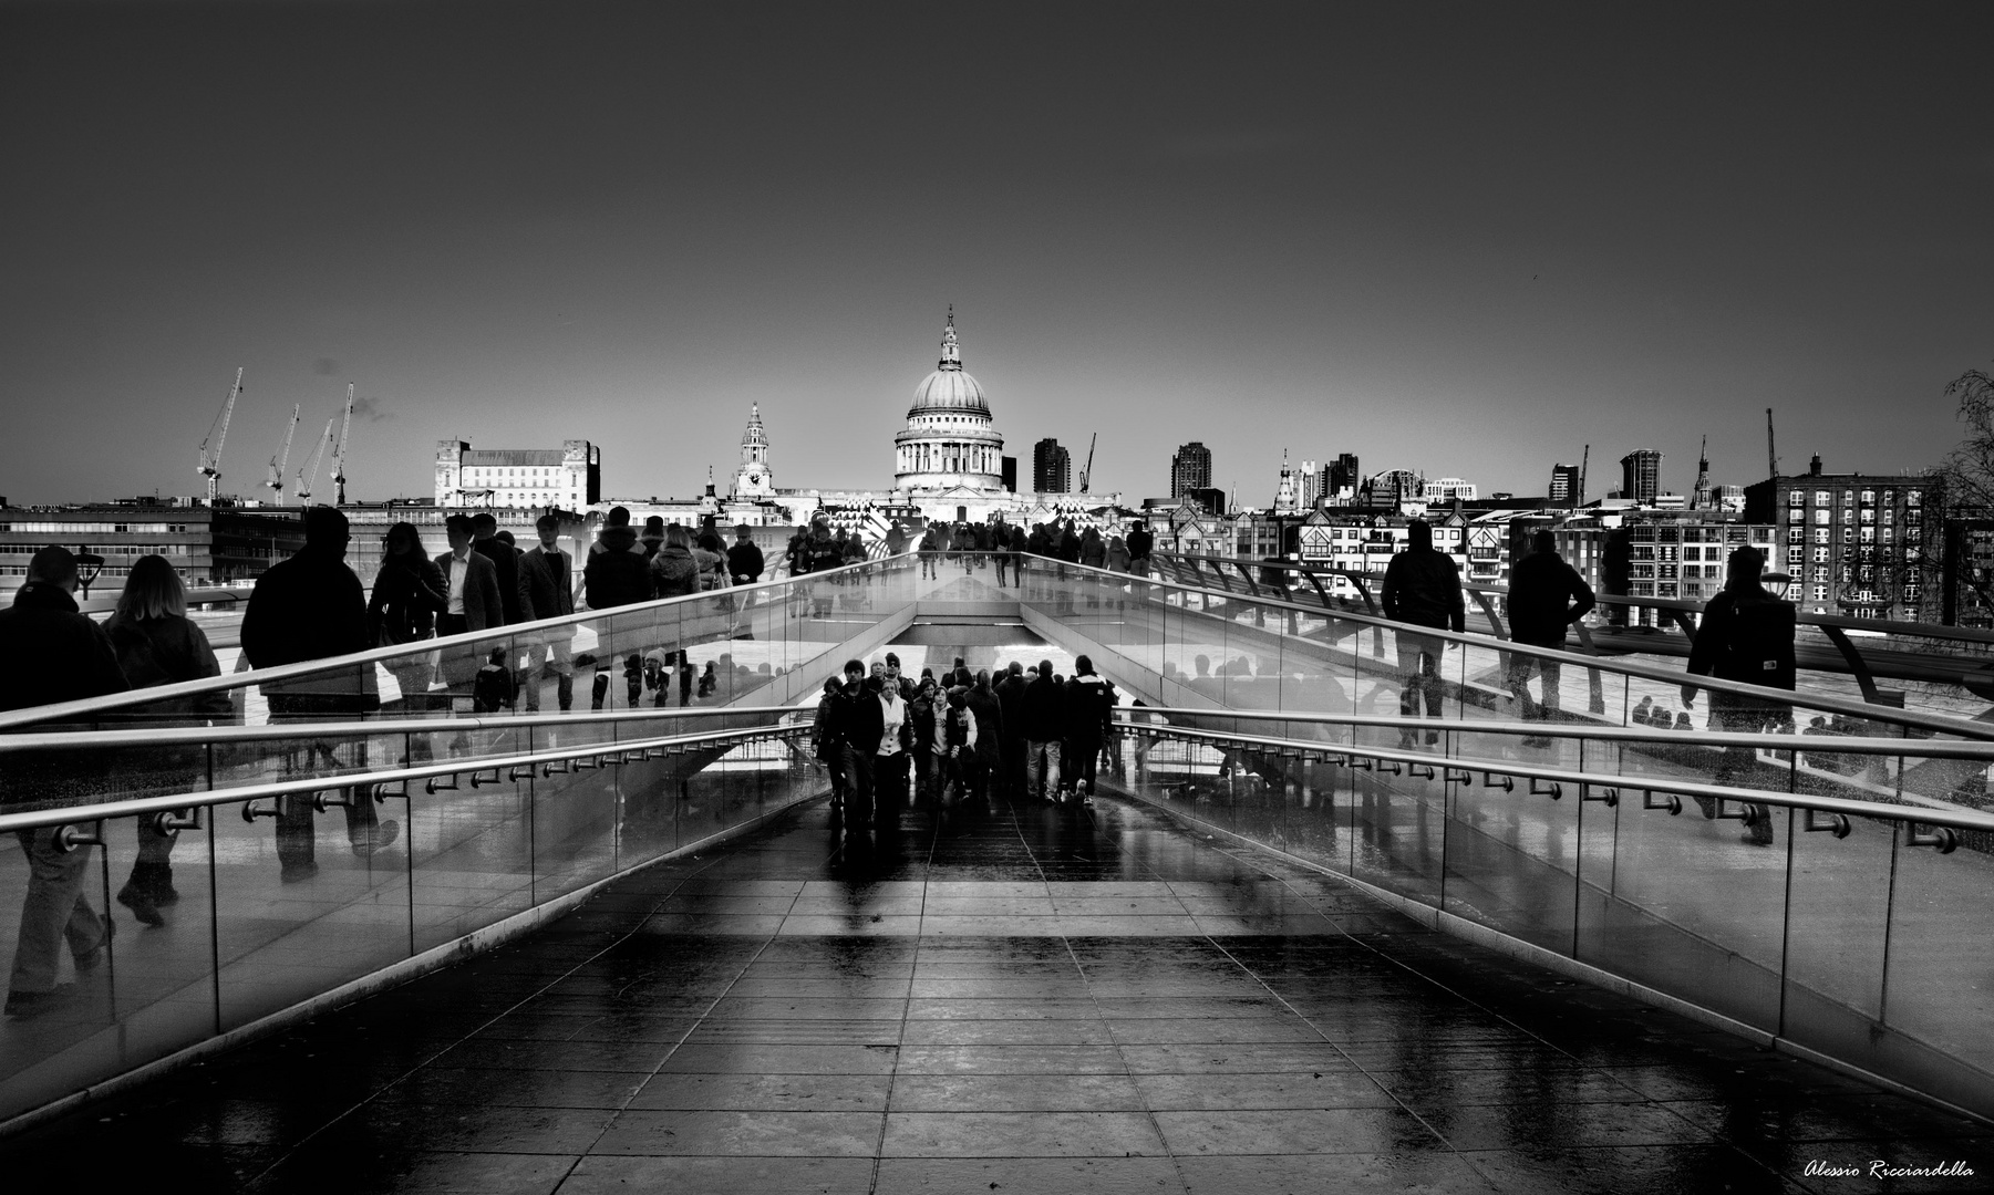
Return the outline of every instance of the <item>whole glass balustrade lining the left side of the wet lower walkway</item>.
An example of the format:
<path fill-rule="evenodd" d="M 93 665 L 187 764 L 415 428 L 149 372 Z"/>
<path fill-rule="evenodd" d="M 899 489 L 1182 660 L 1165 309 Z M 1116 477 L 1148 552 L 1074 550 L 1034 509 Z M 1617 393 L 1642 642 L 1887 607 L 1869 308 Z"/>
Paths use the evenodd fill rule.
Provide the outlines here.
<path fill-rule="evenodd" d="M 309 751 L 373 775 L 253 801 L 195 793 L 203 805 L 146 817 L 8 813 L 0 825 L 18 833 L 0 850 L 0 944 L 16 1000 L 56 996 L 0 1020 L 0 1119 L 826 789 L 822 767 L 772 727 L 642 729 L 654 735 L 618 723 L 624 747 L 596 753 L 522 727 L 506 731 L 512 755 L 479 745 L 489 767 L 413 761 L 433 775 L 395 779 L 409 771 L 395 757 L 405 737 L 301 727 L 299 741 L 237 745 L 267 759 L 233 765 L 267 781 Z M 156 763 L 162 777 L 191 777 L 201 757 L 175 747 Z M 140 924 L 142 908 L 158 924 Z M 116 934 L 98 948 L 106 910 Z"/>

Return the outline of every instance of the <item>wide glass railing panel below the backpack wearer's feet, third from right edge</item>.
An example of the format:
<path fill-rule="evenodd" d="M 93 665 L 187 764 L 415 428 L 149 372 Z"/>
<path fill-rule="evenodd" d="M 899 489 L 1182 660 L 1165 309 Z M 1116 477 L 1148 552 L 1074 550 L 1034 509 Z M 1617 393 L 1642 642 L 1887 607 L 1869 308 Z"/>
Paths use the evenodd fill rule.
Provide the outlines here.
<path fill-rule="evenodd" d="M 1657 793 L 1655 803 L 1665 797 Z M 1777 1030 L 1785 819 L 1773 825 L 1781 848 L 1767 848 L 1741 842 L 1749 833 L 1737 819 L 1743 807 L 1713 807 L 1731 815 L 1717 821 L 1705 821 L 1687 797 L 1679 809 L 1647 809 L 1639 791 L 1621 791 L 1611 858 L 1597 860 L 1587 848 L 1575 956 Z"/>

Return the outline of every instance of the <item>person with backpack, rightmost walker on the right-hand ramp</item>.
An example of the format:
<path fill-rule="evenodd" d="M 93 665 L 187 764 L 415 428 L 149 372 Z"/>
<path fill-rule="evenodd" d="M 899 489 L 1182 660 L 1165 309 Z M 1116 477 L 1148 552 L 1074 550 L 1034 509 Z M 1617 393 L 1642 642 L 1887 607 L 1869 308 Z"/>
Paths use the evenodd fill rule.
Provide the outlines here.
<path fill-rule="evenodd" d="M 1725 588 L 1703 607 L 1697 637 L 1689 645 L 1689 675 L 1743 681 L 1767 689 L 1793 691 L 1793 625 L 1791 601 L 1781 601 L 1763 584 L 1765 556 L 1757 548 L 1739 548 L 1725 568 Z M 1695 683 L 1683 683 L 1683 707 L 1697 697 Z M 1793 719 L 1793 705 L 1771 697 L 1711 691 L 1711 729 L 1759 733 L 1769 723 Z M 1751 749 L 1725 751 L 1717 767 L 1717 783 L 1729 785 L 1753 763 Z M 1717 803 L 1697 797 L 1703 817 L 1717 817 Z M 1773 844 L 1773 811 L 1751 805 L 1745 840 L 1753 846 Z"/>

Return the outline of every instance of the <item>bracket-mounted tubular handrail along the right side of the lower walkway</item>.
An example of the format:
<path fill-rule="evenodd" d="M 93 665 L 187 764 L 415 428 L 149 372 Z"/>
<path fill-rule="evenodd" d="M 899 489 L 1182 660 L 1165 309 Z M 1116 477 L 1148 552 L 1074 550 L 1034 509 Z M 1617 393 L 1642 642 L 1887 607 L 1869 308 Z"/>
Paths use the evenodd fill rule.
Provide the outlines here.
<path fill-rule="evenodd" d="M 1733 801 L 1749 805 L 1781 805 L 1789 809 L 1813 809 L 1842 817 L 1866 817 L 1880 821 L 1912 823 L 1920 827 L 1946 827 L 1952 831 L 1994 833 L 1994 815 L 1970 813 L 1962 809 L 1926 809 L 1908 805 L 1878 805 L 1872 801 L 1848 801 L 1842 797 L 1811 797 L 1805 793 L 1779 793 L 1773 789 L 1737 789 L 1731 785 L 1705 785 L 1699 781 L 1661 781 L 1657 777 L 1623 777 L 1619 773 L 1587 773 L 1557 767 L 1535 767 L 1513 759 L 1472 759 L 1442 757 L 1422 751 L 1394 751 L 1390 747 L 1364 747 L 1360 743 L 1316 743 L 1308 739 L 1274 739 L 1266 735 L 1228 735 L 1222 731 L 1194 731 L 1188 727 L 1149 725 L 1143 727 L 1153 737 L 1196 739 L 1214 747 L 1266 747 L 1292 751 L 1298 755 L 1342 755 L 1364 757 L 1398 765 L 1450 767 L 1456 771 L 1501 773 L 1529 781 L 1559 785 L 1589 785 L 1599 789 L 1621 789 L 1631 793 L 1681 793 L 1683 797 L 1709 797 L 1713 801 Z M 1436 773 L 1438 779 L 1438 773 Z M 1496 785 L 1499 787 L 1499 785 Z"/>

